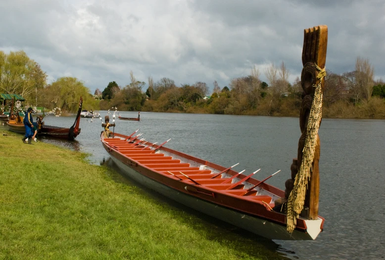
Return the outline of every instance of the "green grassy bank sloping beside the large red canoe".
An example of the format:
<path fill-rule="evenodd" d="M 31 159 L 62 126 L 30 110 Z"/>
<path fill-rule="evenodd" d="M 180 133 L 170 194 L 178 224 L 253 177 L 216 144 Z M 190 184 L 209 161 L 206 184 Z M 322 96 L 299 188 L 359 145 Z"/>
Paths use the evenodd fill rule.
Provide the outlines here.
<path fill-rule="evenodd" d="M 154 199 L 85 154 L 20 137 L 0 135 L 0 259 L 282 258 L 271 241 Z"/>

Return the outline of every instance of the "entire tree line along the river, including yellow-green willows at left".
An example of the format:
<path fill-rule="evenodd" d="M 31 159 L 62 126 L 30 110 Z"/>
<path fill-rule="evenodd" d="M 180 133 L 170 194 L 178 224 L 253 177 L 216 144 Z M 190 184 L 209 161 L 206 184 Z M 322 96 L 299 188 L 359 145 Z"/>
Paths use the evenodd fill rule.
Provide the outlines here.
<path fill-rule="evenodd" d="M 260 79 L 264 73 L 267 82 Z M 0 51 L 0 92 L 26 98 L 26 105 L 61 108 L 63 113 L 77 110 L 80 96 L 83 107 L 120 111 L 212 113 L 230 115 L 298 116 L 302 87 L 299 78 L 289 83 L 285 62 L 274 63 L 260 72 L 255 66 L 248 76 L 232 79 L 228 86 L 205 82 L 176 86 L 174 80 L 161 78 L 139 81 L 130 72 L 130 82 L 121 86 L 110 82 L 103 91 L 96 89 L 96 100 L 84 82 L 62 77 L 47 83 L 40 65 L 20 51 Z M 144 89 L 144 87 L 146 87 Z M 211 87 L 211 86 L 210 86 Z M 209 95 L 209 98 L 206 97 Z M 357 57 L 355 70 L 337 74 L 327 71 L 323 96 L 323 116 L 341 118 L 385 118 L 385 83 L 374 81 L 374 67 L 368 59 Z"/>

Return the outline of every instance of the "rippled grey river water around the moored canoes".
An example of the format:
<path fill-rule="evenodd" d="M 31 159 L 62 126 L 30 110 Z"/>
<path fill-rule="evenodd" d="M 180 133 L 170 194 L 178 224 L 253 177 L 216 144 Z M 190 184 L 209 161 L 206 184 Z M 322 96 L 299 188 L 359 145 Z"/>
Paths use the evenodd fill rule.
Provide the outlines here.
<path fill-rule="evenodd" d="M 104 118 L 106 111 L 100 114 Z M 135 112 L 121 112 L 136 117 Z M 111 117 L 111 114 L 110 114 Z M 69 127 L 74 117 L 47 116 L 47 125 Z M 112 121 L 112 119 L 111 119 Z M 108 160 L 99 134 L 100 119 L 82 118 L 75 142 L 41 139 L 90 153 L 91 163 Z M 141 113 L 141 121 L 116 120 L 115 131 L 138 132 L 151 142 L 251 173 L 285 189 L 297 154 L 298 118 L 205 114 Z M 315 241 L 274 241 L 289 259 L 384 259 L 385 121 L 323 119 L 319 215 L 324 232 Z M 111 129 L 113 130 L 113 129 Z M 256 241 L 256 243 L 258 243 Z"/>

